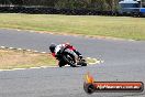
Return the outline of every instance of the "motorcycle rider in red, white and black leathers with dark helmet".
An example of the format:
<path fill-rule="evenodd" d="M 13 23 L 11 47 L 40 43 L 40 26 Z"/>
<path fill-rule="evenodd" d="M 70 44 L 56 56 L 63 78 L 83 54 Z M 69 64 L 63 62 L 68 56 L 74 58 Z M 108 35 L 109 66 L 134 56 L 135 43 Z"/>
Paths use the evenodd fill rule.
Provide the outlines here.
<path fill-rule="evenodd" d="M 49 46 L 49 51 L 51 51 L 52 55 L 54 57 L 56 57 L 56 60 L 58 60 L 58 61 L 59 61 L 59 53 L 60 53 L 62 48 L 72 50 L 77 54 L 77 55 L 75 55 L 77 58 L 82 58 L 82 55 L 69 43 L 58 44 L 58 45 L 56 45 L 55 43 L 52 43 Z M 66 65 L 66 64 L 63 61 L 58 62 L 59 67 L 62 67 L 64 65 Z"/>

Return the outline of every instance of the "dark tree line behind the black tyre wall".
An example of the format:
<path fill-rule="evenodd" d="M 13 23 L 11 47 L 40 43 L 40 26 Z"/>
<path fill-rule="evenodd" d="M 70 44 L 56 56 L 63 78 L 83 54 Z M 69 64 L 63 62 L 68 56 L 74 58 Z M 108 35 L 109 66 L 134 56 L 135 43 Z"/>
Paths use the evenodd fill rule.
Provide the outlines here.
<path fill-rule="evenodd" d="M 40 6 L 57 9 L 115 10 L 120 0 L 0 0 L 1 6 Z"/>

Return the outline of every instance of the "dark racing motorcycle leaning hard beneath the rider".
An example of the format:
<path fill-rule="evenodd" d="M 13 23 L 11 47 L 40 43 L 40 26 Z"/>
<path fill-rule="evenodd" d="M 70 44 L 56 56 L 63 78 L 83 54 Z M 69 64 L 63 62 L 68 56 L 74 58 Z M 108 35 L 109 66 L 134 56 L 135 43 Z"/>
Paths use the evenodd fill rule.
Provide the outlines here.
<path fill-rule="evenodd" d="M 71 67 L 87 66 L 87 62 L 83 58 L 80 58 L 72 50 L 62 48 L 57 56 L 57 60 L 60 61 L 59 67 L 65 65 L 70 65 Z"/>

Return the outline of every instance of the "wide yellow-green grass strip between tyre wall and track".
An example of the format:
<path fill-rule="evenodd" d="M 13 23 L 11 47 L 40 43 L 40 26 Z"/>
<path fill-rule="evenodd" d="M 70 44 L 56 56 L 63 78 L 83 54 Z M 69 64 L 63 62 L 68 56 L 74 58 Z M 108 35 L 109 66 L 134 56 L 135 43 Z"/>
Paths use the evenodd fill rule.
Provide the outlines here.
<path fill-rule="evenodd" d="M 0 28 L 145 40 L 144 18 L 1 13 Z"/>

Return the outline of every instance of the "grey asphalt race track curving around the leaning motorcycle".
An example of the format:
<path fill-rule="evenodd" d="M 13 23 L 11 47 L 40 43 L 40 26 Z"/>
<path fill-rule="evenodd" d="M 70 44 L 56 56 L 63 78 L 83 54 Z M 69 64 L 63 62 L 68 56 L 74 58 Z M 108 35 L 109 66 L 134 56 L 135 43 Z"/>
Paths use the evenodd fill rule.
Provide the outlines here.
<path fill-rule="evenodd" d="M 87 72 L 96 80 L 145 83 L 145 41 L 88 39 L 55 34 L 0 30 L 0 46 L 48 52 L 48 45 L 70 42 L 85 56 L 104 60 L 87 67 L 40 68 L 0 72 L 0 97 L 145 97 L 145 93 L 83 91 Z"/>

